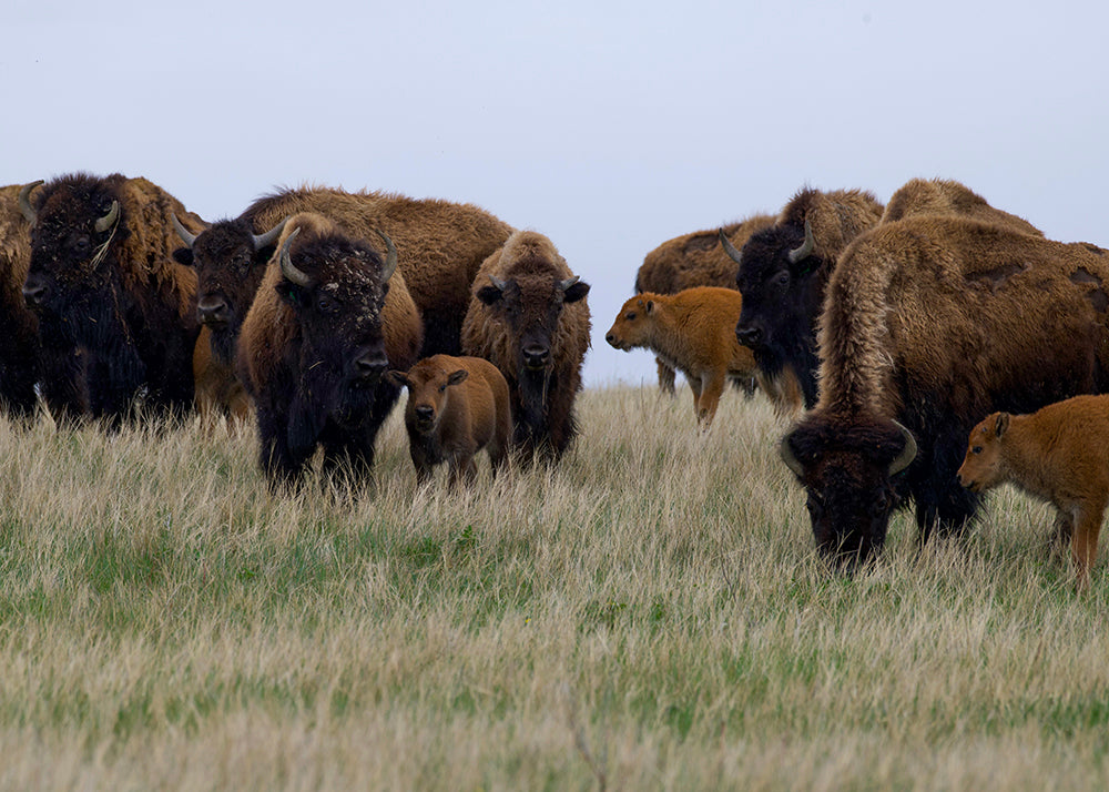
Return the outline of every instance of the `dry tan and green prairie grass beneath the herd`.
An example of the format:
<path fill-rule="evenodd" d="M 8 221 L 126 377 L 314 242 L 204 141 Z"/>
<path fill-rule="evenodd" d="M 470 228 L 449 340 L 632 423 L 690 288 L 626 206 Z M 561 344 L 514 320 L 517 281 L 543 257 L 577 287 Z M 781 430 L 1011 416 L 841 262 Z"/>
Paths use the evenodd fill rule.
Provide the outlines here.
<path fill-rule="evenodd" d="M 835 577 L 766 403 L 587 390 L 557 470 L 267 494 L 252 431 L 0 422 L 0 788 L 1095 789 L 1107 575 L 1010 490 Z M 1103 554 L 1102 554 L 1103 555 Z"/>

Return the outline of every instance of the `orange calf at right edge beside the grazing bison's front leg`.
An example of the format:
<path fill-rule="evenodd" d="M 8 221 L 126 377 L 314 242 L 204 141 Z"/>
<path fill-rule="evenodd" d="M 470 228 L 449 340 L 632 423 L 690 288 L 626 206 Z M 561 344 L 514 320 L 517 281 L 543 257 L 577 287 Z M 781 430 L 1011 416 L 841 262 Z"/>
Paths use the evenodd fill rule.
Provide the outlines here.
<path fill-rule="evenodd" d="M 1075 396 L 1030 415 L 994 413 L 970 431 L 959 484 L 1006 481 L 1055 506 L 1055 539 L 1070 540 L 1078 585 L 1089 581 L 1109 501 L 1109 396 Z"/>

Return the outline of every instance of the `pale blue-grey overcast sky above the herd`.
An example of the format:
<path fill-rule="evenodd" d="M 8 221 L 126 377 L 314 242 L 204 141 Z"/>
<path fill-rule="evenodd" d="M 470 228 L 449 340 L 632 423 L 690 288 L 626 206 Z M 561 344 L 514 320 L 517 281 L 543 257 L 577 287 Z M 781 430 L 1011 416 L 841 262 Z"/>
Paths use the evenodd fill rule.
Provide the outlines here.
<path fill-rule="evenodd" d="M 592 284 L 802 186 L 956 179 L 1109 246 L 1109 6 L 8 0 L 2 183 L 146 176 L 205 220 L 304 182 L 476 203 Z"/>

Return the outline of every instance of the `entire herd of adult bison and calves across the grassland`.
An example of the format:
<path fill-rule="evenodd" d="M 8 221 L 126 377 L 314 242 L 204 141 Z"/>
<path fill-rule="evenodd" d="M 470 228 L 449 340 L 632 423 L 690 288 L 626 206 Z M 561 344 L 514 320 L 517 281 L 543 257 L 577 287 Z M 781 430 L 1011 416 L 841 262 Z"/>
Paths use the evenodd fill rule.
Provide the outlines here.
<path fill-rule="evenodd" d="M 649 253 L 606 339 L 654 353 L 663 390 L 682 372 L 703 430 L 728 379 L 796 416 L 779 453 L 834 566 L 872 558 L 903 504 L 923 544 L 1010 480 L 1059 509 L 1082 585 L 1109 404 L 1065 399 L 1109 392 L 1107 280 L 1102 248 L 958 182 L 885 205 L 805 189 Z M 446 463 L 468 484 L 481 449 L 496 470 L 570 447 L 588 293 L 551 240 L 470 204 L 302 187 L 208 223 L 143 179 L 63 175 L 0 190 L 0 403 L 109 429 L 253 415 L 282 489 L 318 449 L 364 478 L 407 388 L 418 480 Z"/>

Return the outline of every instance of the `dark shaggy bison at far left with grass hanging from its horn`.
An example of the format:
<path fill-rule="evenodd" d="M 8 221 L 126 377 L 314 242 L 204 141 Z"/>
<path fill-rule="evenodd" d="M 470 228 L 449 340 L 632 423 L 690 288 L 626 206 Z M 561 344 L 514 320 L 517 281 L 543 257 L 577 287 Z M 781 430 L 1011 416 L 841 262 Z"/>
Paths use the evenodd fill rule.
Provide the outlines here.
<path fill-rule="evenodd" d="M 144 397 L 181 415 L 193 402 L 196 274 L 173 261 L 171 215 L 196 215 L 145 179 L 78 173 L 21 202 L 31 222 L 23 298 L 39 318 L 44 387 L 115 420 Z"/>

